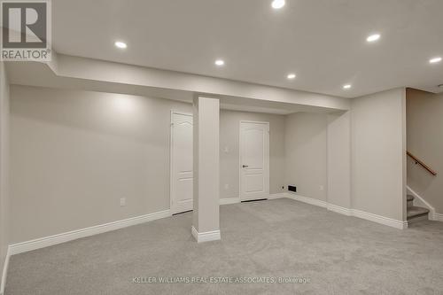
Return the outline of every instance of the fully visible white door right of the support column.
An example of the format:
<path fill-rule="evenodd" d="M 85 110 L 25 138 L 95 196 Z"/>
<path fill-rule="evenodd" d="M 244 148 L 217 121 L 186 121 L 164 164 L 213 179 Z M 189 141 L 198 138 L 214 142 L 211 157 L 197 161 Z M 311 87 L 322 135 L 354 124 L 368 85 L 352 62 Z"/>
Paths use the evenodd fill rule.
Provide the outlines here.
<path fill-rule="evenodd" d="M 240 121 L 240 199 L 269 195 L 269 123 Z"/>

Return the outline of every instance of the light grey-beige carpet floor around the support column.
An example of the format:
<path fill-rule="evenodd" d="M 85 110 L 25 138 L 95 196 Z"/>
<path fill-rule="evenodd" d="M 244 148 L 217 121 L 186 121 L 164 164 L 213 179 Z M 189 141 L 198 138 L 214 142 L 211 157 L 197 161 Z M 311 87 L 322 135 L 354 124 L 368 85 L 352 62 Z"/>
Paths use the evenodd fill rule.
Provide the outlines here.
<path fill-rule="evenodd" d="M 443 222 L 392 229 L 275 199 L 221 206 L 221 241 L 198 245 L 191 214 L 12 256 L 6 295 L 443 294 Z M 200 283 L 148 282 L 165 276 Z"/>

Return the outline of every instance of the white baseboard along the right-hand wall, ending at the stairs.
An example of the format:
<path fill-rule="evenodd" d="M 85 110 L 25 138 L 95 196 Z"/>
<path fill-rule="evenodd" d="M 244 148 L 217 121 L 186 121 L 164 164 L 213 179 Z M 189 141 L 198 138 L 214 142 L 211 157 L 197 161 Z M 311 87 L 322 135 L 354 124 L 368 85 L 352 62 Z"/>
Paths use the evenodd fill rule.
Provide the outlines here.
<path fill-rule="evenodd" d="M 377 215 L 374 213 L 368 213 L 357 209 L 345 208 L 333 204 L 329 204 L 328 202 L 316 199 L 316 198 L 308 198 L 296 195 L 294 193 L 288 192 L 287 198 L 295 199 L 300 202 L 304 202 L 310 205 L 321 206 L 323 208 L 327 208 L 330 211 L 345 214 L 347 216 L 358 217 L 367 221 L 374 221 L 380 224 L 384 224 L 390 226 L 395 229 L 407 229 L 408 221 L 398 221 L 392 218 L 388 218 L 385 216 Z"/>

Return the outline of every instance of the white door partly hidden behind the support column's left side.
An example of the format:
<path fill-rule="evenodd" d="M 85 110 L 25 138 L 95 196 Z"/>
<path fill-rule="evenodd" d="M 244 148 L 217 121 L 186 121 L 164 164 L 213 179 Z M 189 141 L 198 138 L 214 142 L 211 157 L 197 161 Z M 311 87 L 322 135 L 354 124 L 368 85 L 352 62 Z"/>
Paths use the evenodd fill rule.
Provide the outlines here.
<path fill-rule="evenodd" d="M 192 210 L 192 115 L 171 112 L 171 213 Z"/>

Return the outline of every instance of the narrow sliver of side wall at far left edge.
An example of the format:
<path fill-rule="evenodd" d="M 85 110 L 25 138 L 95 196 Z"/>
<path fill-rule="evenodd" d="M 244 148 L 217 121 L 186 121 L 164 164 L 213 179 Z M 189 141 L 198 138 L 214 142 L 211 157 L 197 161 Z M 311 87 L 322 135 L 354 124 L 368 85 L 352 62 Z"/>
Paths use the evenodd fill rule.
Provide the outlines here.
<path fill-rule="evenodd" d="M 0 62 L 0 274 L 9 245 L 9 86 Z M 2 275 L 0 275 L 2 276 Z"/>

